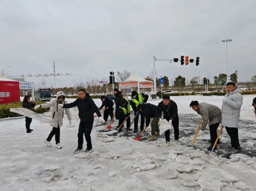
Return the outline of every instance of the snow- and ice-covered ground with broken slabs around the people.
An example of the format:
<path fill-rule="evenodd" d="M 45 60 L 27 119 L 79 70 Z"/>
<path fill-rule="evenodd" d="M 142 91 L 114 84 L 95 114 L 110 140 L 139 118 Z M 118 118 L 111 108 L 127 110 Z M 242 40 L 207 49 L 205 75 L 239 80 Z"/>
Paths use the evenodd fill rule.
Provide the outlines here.
<path fill-rule="evenodd" d="M 78 109 L 70 109 L 72 125 L 64 115 L 61 127 L 62 149 L 47 147 L 44 140 L 52 127 L 32 120 L 32 133 L 26 133 L 24 119 L 0 122 L 0 190 L 4 191 L 238 191 L 256 190 L 256 119 L 252 112 L 255 95 L 243 96 L 239 141 L 243 154 L 230 155 L 230 138 L 225 129 L 218 146 L 218 157 L 208 156 L 209 129 L 191 147 L 200 116 L 189 108 L 191 100 L 221 108 L 223 96 L 173 96 L 180 118 L 180 142 L 165 147 L 163 136 L 147 142 L 150 127 L 142 141 L 139 133 L 103 135 L 98 118 L 91 133 L 95 152 L 74 154 L 77 148 Z M 75 99 L 67 99 L 72 102 Z M 161 100 L 149 100 L 158 104 Z M 97 106 L 101 105 L 95 99 Z M 50 119 L 50 111 L 43 114 Z M 132 115 L 133 119 L 134 115 Z M 109 124 L 110 118 L 108 120 Z M 113 128 L 117 126 L 114 121 Z M 133 129 L 133 125 L 132 125 Z M 108 142 L 109 141 L 109 142 Z M 84 142 L 84 147 L 86 147 Z M 248 156 L 246 156 L 246 155 Z M 227 158 L 224 158 L 227 157 Z M 230 159 L 231 158 L 231 159 Z M 62 176 L 63 175 L 63 176 Z M 51 177 L 52 176 L 52 177 Z M 61 176 L 59 180 L 58 177 Z M 51 181 L 50 181 L 51 180 Z M 57 181 L 55 181 L 57 180 Z M 48 182 L 48 183 L 47 183 Z M 191 187 L 192 186 L 192 187 Z M 232 189 L 233 188 L 233 189 Z M 236 189 L 238 188 L 238 189 Z"/>

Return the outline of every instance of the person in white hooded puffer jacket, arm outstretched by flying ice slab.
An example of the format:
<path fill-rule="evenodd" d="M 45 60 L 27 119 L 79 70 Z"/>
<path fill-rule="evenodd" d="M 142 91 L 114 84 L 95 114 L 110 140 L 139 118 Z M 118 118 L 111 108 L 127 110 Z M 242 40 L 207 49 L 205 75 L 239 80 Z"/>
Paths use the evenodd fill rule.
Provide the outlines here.
<path fill-rule="evenodd" d="M 57 92 L 57 99 L 50 101 L 48 104 L 41 104 L 37 105 L 35 107 L 35 110 L 39 107 L 41 108 L 46 108 L 46 107 L 52 107 L 52 118 L 51 118 L 51 123 L 50 126 L 52 126 L 52 131 L 50 132 L 48 138 L 45 140 L 45 144 L 48 147 L 51 147 L 51 140 L 52 137 L 55 135 L 55 141 L 56 141 L 56 147 L 58 149 L 61 149 L 61 144 L 59 142 L 59 137 L 60 137 L 60 127 L 63 125 L 63 116 L 64 116 L 64 108 L 59 109 L 58 105 L 59 104 L 67 104 L 67 100 L 65 100 L 64 93 L 62 91 Z M 71 115 L 69 112 L 69 109 L 65 108 L 67 117 L 69 119 L 69 124 L 71 125 Z"/>

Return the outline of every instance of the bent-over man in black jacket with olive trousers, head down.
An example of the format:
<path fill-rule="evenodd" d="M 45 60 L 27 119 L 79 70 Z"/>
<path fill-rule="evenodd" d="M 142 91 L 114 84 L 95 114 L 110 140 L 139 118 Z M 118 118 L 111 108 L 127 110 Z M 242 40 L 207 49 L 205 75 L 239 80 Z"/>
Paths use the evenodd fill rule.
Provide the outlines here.
<path fill-rule="evenodd" d="M 138 105 L 139 111 L 142 112 L 146 118 L 146 128 L 149 126 L 150 118 L 152 118 L 152 121 L 150 124 L 152 136 L 149 138 L 149 141 L 155 140 L 155 136 L 160 136 L 159 126 L 158 126 L 159 119 L 156 117 L 156 108 L 157 106 L 149 103 Z"/>

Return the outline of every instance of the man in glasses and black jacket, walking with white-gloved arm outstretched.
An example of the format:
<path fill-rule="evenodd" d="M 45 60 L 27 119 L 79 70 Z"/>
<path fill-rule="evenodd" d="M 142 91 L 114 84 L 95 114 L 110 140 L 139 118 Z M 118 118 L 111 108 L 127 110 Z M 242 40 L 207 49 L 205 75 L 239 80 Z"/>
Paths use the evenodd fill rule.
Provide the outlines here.
<path fill-rule="evenodd" d="M 105 122 L 98 107 L 95 105 L 94 101 L 90 98 L 90 95 L 85 92 L 84 89 L 78 91 L 79 98 L 76 101 L 70 104 L 59 104 L 59 108 L 71 108 L 78 107 L 78 116 L 80 118 L 80 124 L 78 129 L 78 147 L 74 153 L 83 152 L 83 134 L 87 142 L 87 148 L 84 151 L 85 153 L 93 152 L 93 146 L 91 144 L 91 130 L 93 129 L 94 116 L 93 113 L 96 113 L 101 122 Z"/>

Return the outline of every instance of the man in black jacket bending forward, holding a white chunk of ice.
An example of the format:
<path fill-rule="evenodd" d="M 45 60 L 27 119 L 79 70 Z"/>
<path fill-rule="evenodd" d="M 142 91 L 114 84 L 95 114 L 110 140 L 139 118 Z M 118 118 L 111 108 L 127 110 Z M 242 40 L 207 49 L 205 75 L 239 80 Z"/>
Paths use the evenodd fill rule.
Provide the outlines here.
<path fill-rule="evenodd" d="M 170 100 L 169 95 L 163 95 L 163 101 L 161 101 L 157 108 L 156 108 L 156 116 L 160 120 L 161 118 L 161 113 L 163 112 L 163 118 L 166 119 L 167 121 L 171 122 L 174 128 L 174 138 L 175 142 L 177 144 L 179 143 L 179 117 L 178 117 L 178 107 L 177 104 L 173 101 Z M 160 126 L 161 128 L 161 126 Z M 170 130 L 165 131 L 165 140 L 167 143 L 167 146 L 169 146 L 170 143 Z"/>

